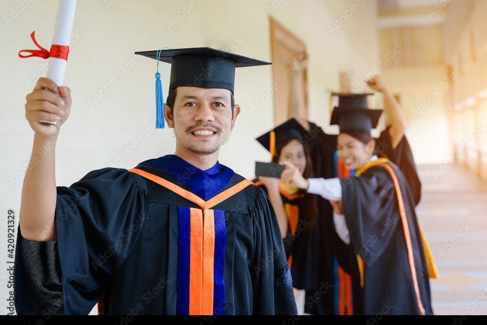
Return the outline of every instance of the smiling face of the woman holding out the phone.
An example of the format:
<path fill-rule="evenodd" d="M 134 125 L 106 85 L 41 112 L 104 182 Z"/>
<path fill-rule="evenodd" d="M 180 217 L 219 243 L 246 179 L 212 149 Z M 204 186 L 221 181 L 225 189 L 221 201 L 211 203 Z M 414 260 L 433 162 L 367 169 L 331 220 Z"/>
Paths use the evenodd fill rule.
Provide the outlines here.
<path fill-rule="evenodd" d="M 338 135 L 338 158 L 349 171 L 359 169 L 369 161 L 374 153 L 374 148 L 375 142 L 373 140 L 364 144 L 349 134 L 341 133 Z"/>

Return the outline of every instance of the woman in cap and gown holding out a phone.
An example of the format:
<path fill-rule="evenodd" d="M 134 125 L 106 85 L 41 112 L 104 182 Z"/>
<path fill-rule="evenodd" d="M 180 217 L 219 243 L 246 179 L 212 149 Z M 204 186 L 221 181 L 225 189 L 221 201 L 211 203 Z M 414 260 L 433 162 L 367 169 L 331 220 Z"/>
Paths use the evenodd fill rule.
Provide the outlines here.
<path fill-rule="evenodd" d="M 338 158 L 347 170 L 356 170 L 354 177 L 305 179 L 285 162 L 281 179 L 332 203 L 337 235 L 353 252 L 342 253 L 339 262 L 348 268 L 355 258 L 359 265 L 352 281 L 362 288 L 354 292 L 354 299 L 363 306 L 356 313 L 432 314 L 414 196 L 403 173 L 374 155 L 370 130 L 380 113 L 353 107 L 334 110 L 331 124 L 340 127 Z"/>

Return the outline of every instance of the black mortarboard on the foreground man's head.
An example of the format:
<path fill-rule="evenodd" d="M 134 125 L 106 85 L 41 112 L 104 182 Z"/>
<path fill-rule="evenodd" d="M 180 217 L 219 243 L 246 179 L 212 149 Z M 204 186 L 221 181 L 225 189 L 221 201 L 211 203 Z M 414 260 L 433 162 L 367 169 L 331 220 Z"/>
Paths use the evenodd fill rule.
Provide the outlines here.
<path fill-rule="evenodd" d="M 187 86 L 222 88 L 234 93 L 235 68 L 271 64 L 208 47 L 145 51 L 135 54 L 171 64 L 169 91 Z"/>

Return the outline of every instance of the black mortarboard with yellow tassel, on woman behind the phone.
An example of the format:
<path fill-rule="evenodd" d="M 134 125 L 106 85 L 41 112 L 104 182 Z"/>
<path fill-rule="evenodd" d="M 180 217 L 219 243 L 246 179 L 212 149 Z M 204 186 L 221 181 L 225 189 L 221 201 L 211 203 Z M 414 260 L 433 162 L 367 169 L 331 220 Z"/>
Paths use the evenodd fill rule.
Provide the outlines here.
<path fill-rule="evenodd" d="M 292 139 L 300 140 L 307 133 L 296 119 L 291 118 L 266 134 L 262 134 L 256 140 L 274 157 L 276 148 L 282 148 Z"/>

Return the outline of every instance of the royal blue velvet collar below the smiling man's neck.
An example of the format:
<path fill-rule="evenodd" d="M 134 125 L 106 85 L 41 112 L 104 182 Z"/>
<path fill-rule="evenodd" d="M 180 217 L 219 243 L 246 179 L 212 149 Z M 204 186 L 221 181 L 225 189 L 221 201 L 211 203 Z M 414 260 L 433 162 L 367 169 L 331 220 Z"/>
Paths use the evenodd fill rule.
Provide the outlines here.
<path fill-rule="evenodd" d="M 202 171 L 173 154 L 146 160 L 141 164 L 168 173 L 205 200 L 222 191 L 234 174 L 218 161 L 215 166 Z"/>

